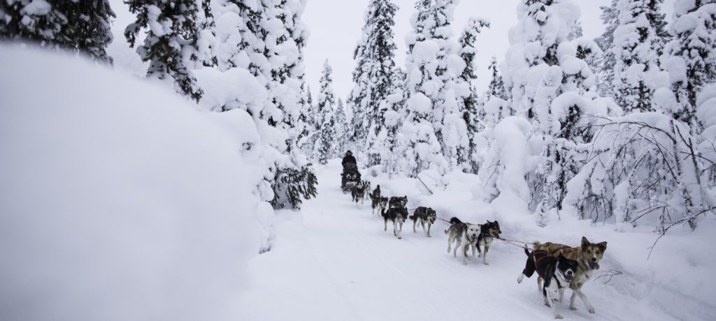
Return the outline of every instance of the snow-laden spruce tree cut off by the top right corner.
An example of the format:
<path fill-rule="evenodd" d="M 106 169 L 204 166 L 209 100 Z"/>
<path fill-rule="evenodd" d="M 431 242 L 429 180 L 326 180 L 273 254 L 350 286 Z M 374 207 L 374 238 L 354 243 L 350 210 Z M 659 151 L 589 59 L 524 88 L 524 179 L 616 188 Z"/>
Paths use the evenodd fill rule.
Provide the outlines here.
<path fill-rule="evenodd" d="M 675 1 L 670 31 L 674 38 L 662 63 L 678 104 L 669 114 L 700 133 L 703 124 L 695 117 L 696 97 L 706 84 L 716 82 L 716 1 Z"/>

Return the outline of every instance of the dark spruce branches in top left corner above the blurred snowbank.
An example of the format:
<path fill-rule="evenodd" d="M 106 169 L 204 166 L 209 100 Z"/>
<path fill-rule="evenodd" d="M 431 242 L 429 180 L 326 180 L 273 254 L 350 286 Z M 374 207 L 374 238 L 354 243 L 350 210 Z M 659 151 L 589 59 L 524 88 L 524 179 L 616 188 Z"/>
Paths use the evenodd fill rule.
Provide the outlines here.
<path fill-rule="evenodd" d="M 114 17 L 107 0 L 0 1 L 0 39 L 34 41 L 111 64 L 105 49 L 112 42 Z"/>

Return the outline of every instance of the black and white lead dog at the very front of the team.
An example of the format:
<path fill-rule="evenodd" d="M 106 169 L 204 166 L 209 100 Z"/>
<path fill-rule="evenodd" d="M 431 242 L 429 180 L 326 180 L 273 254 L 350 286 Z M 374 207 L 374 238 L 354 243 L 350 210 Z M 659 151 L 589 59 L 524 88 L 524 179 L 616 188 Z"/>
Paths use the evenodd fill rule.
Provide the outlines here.
<path fill-rule="evenodd" d="M 542 287 L 544 303 L 552 308 L 555 319 L 561 319 L 562 316 L 557 311 L 552 293 L 558 291 L 559 302 L 562 302 L 564 288 L 569 287 L 569 284 L 574 281 L 574 275 L 579 263 L 575 260 L 569 260 L 561 254 L 558 257 L 553 257 L 545 250 L 529 252 L 529 250 L 525 249 L 525 254 L 527 255 L 527 262 L 522 274 L 517 278 L 517 282 L 521 283 L 525 276 L 531 277 L 537 271 L 537 275 L 544 279 Z"/>

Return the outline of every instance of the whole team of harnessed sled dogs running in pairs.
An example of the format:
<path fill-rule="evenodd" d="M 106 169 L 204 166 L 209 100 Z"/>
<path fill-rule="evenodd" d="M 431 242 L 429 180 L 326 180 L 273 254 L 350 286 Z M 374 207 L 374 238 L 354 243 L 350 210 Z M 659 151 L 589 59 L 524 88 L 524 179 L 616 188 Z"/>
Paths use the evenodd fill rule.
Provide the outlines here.
<path fill-rule="evenodd" d="M 430 207 L 417 207 L 409 216 L 407 209 L 407 196 L 384 197 L 380 192 L 380 185 L 370 191 L 370 182 L 359 181 L 350 186 L 353 202 L 362 203 L 364 199 L 371 200 L 372 213 L 380 213 L 383 217 L 383 230 L 387 231 L 388 222 L 393 225 L 393 234 L 402 239 L 402 225 L 407 219 L 412 220 L 412 231 L 417 232 L 417 226 L 422 227 L 426 237 L 430 237 L 430 227 L 437 220 L 437 213 Z M 347 192 L 344 189 L 344 192 Z M 448 253 L 452 250 L 453 257 L 457 257 L 458 250 L 463 255 L 463 265 L 468 264 L 470 257 L 468 252 L 472 249 L 472 256 L 478 252 L 478 257 L 483 259 L 483 265 L 489 265 L 487 260 L 490 245 L 495 238 L 500 238 L 500 224 L 497 221 L 488 220 L 485 224 L 471 224 L 463 222 L 458 217 L 449 221 L 450 227 L 445 229 L 448 234 Z M 427 229 L 425 227 L 427 225 Z M 545 305 L 551 307 L 554 317 L 561 319 L 557 311 L 556 301 L 562 302 L 564 289 L 572 290 L 569 301 L 569 309 L 576 310 L 576 297 L 584 303 L 586 310 L 594 313 L 594 307 L 587 299 L 581 287 L 591 279 L 596 270 L 599 269 L 599 261 L 606 251 L 606 242 L 592 243 L 586 237 L 582 237 L 581 246 L 570 247 L 552 242 L 534 242 L 530 251 L 525 247 L 527 262 L 524 270 L 519 275 L 517 282 L 521 283 L 523 278 L 531 277 L 537 272 L 538 290 L 542 292 Z M 553 293 L 558 293 L 558 300 Z"/>

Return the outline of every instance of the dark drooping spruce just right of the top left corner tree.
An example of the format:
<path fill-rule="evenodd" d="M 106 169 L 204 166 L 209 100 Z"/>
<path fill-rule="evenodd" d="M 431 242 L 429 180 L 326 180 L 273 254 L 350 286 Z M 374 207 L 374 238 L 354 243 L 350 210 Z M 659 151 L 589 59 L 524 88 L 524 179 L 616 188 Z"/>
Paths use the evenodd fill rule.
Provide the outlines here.
<path fill-rule="evenodd" d="M 189 60 L 196 60 L 196 16 L 199 10 L 194 0 L 127 0 L 137 20 L 127 26 L 125 37 L 135 46 L 137 35 L 147 29 L 144 44 L 137 47 L 142 61 L 150 61 L 147 76 L 174 79 L 175 89 L 195 101 L 202 90 L 187 68 Z"/>

